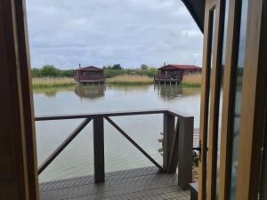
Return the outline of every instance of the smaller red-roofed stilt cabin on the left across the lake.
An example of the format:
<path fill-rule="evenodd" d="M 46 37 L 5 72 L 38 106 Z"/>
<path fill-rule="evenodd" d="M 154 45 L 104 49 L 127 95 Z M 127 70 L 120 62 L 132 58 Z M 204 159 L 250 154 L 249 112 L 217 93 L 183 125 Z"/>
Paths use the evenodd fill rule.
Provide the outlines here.
<path fill-rule="evenodd" d="M 104 70 L 93 66 L 77 68 L 74 70 L 74 79 L 80 84 L 103 84 L 105 83 Z"/>

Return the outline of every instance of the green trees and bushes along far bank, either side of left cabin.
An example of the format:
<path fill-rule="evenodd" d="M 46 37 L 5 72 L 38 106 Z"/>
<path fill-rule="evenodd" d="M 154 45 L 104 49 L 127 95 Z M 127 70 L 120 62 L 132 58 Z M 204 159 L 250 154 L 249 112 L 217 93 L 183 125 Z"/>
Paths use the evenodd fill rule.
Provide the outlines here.
<path fill-rule="evenodd" d="M 120 64 L 104 66 L 106 78 L 120 75 L 155 76 L 157 68 L 150 68 L 142 64 L 140 68 L 122 68 Z M 32 68 L 33 77 L 73 77 L 73 69 L 60 69 L 53 65 L 44 65 L 42 68 Z"/>

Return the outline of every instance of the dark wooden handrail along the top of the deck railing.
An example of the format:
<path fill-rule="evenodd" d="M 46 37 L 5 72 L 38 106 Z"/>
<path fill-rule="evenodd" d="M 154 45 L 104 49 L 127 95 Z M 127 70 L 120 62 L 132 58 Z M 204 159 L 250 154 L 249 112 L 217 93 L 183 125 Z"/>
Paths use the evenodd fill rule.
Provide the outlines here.
<path fill-rule="evenodd" d="M 50 121 L 50 120 L 63 120 L 63 119 L 80 119 L 80 118 L 92 118 L 95 116 L 139 116 L 139 115 L 152 115 L 152 114 L 170 114 L 172 116 L 193 117 L 176 111 L 175 109 L 146 109 L 146 110 L 129 110 L 129 111 L 110 111 L 99 113 L 84 113 L 84 114 L 65 114 L 65 115 L 52 115 L 52 116 L 36 116 L 36 121 Z"/>

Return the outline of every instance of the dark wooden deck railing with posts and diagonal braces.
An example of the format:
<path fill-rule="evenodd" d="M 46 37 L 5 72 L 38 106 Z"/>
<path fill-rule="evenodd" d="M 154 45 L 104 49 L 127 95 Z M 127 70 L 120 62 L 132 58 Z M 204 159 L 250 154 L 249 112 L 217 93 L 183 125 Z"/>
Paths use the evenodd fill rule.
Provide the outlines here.
<path fill-rule="evenodd" d="M 143 148 L 141 148 L 124 130 L 122 130 L 110 116 L 136 116 L 163 114 L 163 166 L 158 164 Z M 158 167 L 160 172 L 174 173 L 178 166 L 178 185 L 182 189 L 189 188 L 192 181 L 192 145 L 193 145 L 193 116 L 175 112 L 167 109 L 157 110 L 134 110 L 127 112 L 95 113 L 68 116 L 37 116 L 36 121 L 79 119 L 84 121 L 69 134 L 61 145 L 56 148 L 43 164 L 39 166 L 38 174 L 53 162 L 61 154 L 69 143 L 81 132 L 87 124 L 93 121 L 93 156 L 94 156 L 94 181 L 100 183 L 105 181 L 105 163 L 104 163 L 104 119 L 112 124 L 135 148 L 140 150 L 143 156 L 146 156 L 151 163 Z M 176 123 L 175 123 L 176 121 Z"/>

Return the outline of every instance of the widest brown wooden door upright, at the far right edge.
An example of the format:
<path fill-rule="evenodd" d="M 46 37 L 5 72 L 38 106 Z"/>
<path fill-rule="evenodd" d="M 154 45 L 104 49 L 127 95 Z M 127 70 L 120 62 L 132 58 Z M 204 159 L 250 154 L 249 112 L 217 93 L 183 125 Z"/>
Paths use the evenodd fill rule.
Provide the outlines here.
<path fill-rule="evenodd" d="M 237 199 L 257 199 L 267 81 L 267 3 L 248 1 L 246 60 L 239 134 Z"/>

